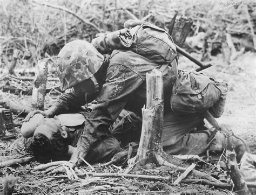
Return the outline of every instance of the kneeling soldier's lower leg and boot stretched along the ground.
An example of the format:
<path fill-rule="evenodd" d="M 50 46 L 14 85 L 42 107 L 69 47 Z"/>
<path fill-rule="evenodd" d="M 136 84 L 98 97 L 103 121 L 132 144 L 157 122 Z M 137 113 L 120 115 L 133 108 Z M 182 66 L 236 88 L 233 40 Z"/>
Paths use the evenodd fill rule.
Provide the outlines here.
<path fill-rule="evenodd" d="M 213 136 L 213 138 L 211 138 Z M 174 136 L 175 137 L 175 136 Z M 237 161 L 245 151 L 248 151 L 247 145 L 241 138 L 233 135 L 232 131 L 225 126 L 220 126 L 220 130 L 215 131 L 215 128 L 190 132 L 175 140 L 169 142 L 169 145 L 164 145 L 164 151 L 171 155 L 201 155 L 207 150 L 213 152 L 223 152 L 226 150 L 235 150 Z"/>

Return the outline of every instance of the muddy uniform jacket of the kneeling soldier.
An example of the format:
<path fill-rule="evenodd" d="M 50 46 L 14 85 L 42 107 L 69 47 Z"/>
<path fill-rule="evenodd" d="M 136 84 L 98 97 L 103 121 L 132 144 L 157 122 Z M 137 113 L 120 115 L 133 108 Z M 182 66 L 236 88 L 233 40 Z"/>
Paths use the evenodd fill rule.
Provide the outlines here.
<path fill-rule="evenodd" d="M 161 65 L 132 51 L 114 50 L 109 62 L 105 60 L 98 71 L 98 77 L 105 79 L 98 81 L 100 90 L 97 96 L 85 96 L 83 93 L 75 93 L 72 89 L 60 96 L 56 104 L 66 111 L 77 109 L 96 96 L 98 104 L 86 118 L 85 128 L 77 143 L 80 151 L 87 153 L 93 143 L 110 135 L 109 127 L 116 121 L 123 108 L 141 116 L 142 107 L 146 104 L 146 73 L 160 67 Z M 172 87 L 171 68 L 166 67 L 163 75 L 164 98 L 167 100 L 170 99 Z M 165 108 L 169 106 L 166 104 Z"/>

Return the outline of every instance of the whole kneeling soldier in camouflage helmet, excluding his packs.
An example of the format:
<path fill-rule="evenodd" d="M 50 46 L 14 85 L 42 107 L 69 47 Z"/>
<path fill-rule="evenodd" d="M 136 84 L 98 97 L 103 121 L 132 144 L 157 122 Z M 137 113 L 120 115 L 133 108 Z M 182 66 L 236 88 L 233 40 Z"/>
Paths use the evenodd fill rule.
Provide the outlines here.
<path fill-rule="evenodd" d="M 227 141 L 218 131 L 217 138 L 208 142 L 214 128 L 204 127 L 203 114 L 184 117 L 172 112 L 170 96 L 174 73 L 171 67 L 156 64 L 130 50 L 113 50 L 110 57 L 104 57 L 84 40 L 71 41 L 58 55 L 56 71 L 61 88 L 69 90 L 60 95 L 48 110 L 31 112 L 25 120 L 36 113 L 53 117 L 76 112 L 80 106 L 96 100 L 97 105 L 86 117 L 83 132 L 70 159 L 78 165 L 81 162 L 79 156 L 86 157 L 94 143 L 112 137 L 109 127 L 123 108 L 142 116 L 142 108 L 146 104 L 146 73 L 154 68 L 160 69 L 164 78 L 164 150 L 169 154 L 202 154 L 209 147 L 213 151 L 222 151 L 227 147 L 226 143 L 232 143 L 241 151 L 240 158 L 246 145 L 234 136 L 229 136 Z"/>

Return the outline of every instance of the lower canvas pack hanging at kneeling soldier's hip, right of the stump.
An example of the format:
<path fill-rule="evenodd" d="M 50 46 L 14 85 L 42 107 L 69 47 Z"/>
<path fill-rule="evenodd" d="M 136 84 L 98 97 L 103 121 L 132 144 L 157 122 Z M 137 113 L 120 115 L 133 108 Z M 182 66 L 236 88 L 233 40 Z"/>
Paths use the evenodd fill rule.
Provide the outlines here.
<path fill-rule="evenodd" d="M 171 109 L 178 115 L 209 110 L 213 117 L 218 118 L 224 112 L 227 91 L 226 82 L 208 78 L 203 73 L 180 70 L 172 88 Z"/>

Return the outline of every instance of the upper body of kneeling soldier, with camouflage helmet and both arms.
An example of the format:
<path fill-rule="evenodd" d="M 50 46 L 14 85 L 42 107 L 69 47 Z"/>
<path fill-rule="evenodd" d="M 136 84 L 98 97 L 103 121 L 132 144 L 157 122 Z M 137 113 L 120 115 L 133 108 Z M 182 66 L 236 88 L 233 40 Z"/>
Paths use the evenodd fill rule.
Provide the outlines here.
<path fill-rule="evenodd" d="M 146 73 L 160 67 L 132 51 L 114 50 L 110 57 L 104 57 L 85 40 L 71 41 L 60 50 L 56 61 L 60 88 L 69 90 L 48 110 L 35 110 L 25 121 L 36 113 L 53 117 L 75 112 L 80 106 L 96 100 L 97 105 L 85 119 L 76 155 L 71 157 L 74 164 L 79 164 L 78 154 L 85 157 L 93 143 L 112 137 L 109 127 L 123 108 L 141 116 L 146 103 Z M 163 74 L 165 92 L 169 92 L 172 70 L 166 67 Z"/>

